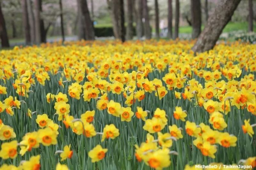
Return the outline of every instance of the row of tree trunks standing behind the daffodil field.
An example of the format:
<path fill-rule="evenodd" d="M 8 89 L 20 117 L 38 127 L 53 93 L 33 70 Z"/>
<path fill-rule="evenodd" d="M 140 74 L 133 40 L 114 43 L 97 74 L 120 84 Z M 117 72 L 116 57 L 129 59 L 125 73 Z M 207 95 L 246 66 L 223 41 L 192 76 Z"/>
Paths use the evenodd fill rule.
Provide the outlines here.
<path fill-rule="evenodd" d="M 65 40 L 64 27 L 63 27 L 63 10 L 62 10 L 62 0 L 59 1 L 59 14 L 60 23 L 61 23 L 61 35 L 63 41 Z M 180 20 L 180 1 L 167 0 L 168 5 L 168 38 L 176 39 L 179 36 L 179 20 Z M 235 3 L 237 2 L 237 3 Z M 191 24 L 192 38 L 209 37 L 211 40 L 214 40 L 212 44 L 214 45 L 225 25 L 230 20 L 232 14 L 234 13 L 237 5 L 240 1 L 233 0 L 223 0 L 217 4 L 216 9 L 210 17 L 208 17 L 208 0 L 204 0 L 204 12 L 206 19 L 208 19 L 205 29 L 201 34 L 201 25 L 202 25 L 202 14 L 201 14 L 201 1 L 200 0 L 191 0 L 190 1 L 190 11 L 191 11 L 191 20 L 188 22 Z M 175 13 L 174 13 L 174 32 L 172 31 L 172 4 L 175 3 Z M 78 37 L 79 39 L 94 40 L 94 28 L 93 28 L 93 1 L 91 0 L 91 14 L 88 9 L 87 0 L 77 0 L 77 13 L 78 13 Z M 133 38 L 133 23 L 136 23 L 136 35 L 138 39 L 141 39 L 143 35 L 146 39 L 151 38 L 152 29 L 149 22 L 149 8 L 147 0 L 126 0 L 124 10 L 124 0 L 107 0 L 109 14 L 112 19 L 113 32 L 116 39 L 120 39 L 123 42 Z M 225 7 L 221 8 L 221 5 L 232 6 L 230 8 Z M 156 38 L 159 38 L 159 9 L 158 9 L 158 0 L 154 0 L 155 5 L 155 33 Z M 42 0 L 21 0 L 22 6 L 22 21 L 23 21 L 23 30 L 25 35 L 26 44 L 39 44 L 46 42 L 46 34 L 51 26 L 51 22 L 45 27 L 44 19 L 41 16 L 42 14 Z M 221 11 L 220 9 L 223 9 Z M 126 11 L 126 13 L 125 13 Z M 227 14 L 224 13 L 227 12 Z M 252 31 L 253 25 L 253 11 L 252 11 L 252 0 L 249 0 L 249 31 Z M 223 16 L 222 16 L 223 15 Z M 125 19 L 126 17 L 126 19 Z M 221 17 L 224 19 L 222 22 Z M 126 21 L 126 26 L 125 26 Z M 215 25 L 214 25 L 215 24 Z M 213 26 L 214 25 L 214 26 Z M 206 30 L 209 30 L 206 32 Z M 213 29 L 213 30 L 212 30 Z M 209 34 L 209 35 L 208 35 Z M 0 6 L 0 36 L 3 47 L 9 46 L 8 36 L 6 33 L 4 16 L 1 11 Z M 199 40 L 201 39 L 199 37 Z M 197 41 L 201 46 L 206 40 Z M 216 40 L 216 41 L 215 41 Z M 199 45 L 195 45 L 194 50 L 201 48 Z M 212 45 L 210 45 L 212 47 Z M 205 49 L 204 49 L 205 50 Z"/>

